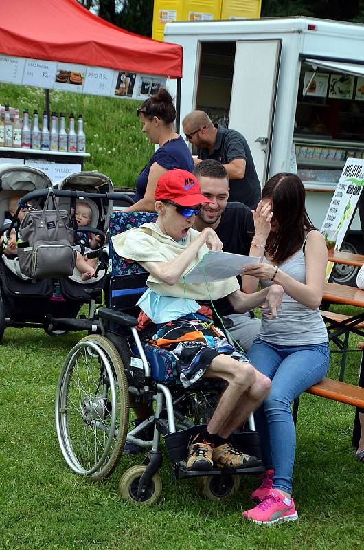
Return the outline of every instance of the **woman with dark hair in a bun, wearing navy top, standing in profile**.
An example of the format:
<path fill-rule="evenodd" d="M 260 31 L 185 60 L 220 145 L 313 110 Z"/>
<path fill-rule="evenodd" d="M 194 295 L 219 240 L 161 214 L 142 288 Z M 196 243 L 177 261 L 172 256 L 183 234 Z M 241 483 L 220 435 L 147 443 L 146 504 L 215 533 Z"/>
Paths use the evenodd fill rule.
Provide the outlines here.
<path fill-rule="evenodd" d="M 137 115 L 143 124 L 141 131 L 148 135 L 150 143 L 158 144 L 159 149 L 137 177 L 135 204 L 125 210 L 154 212 L 155 188 L 161 175 L 173 168 L 193 172 L 194 162 L 185 140 L 174 130 L 176 109 L 166 89 L 159 89 L 158 94 L 145 100 L 137 109 Z"/>

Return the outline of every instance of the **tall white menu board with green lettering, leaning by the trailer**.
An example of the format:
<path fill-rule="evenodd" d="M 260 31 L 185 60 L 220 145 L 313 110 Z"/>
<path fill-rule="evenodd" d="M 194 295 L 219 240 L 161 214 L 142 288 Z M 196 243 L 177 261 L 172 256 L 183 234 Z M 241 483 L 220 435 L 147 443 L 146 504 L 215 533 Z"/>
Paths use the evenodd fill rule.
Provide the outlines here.
<path fill-rule="evenodd" d="M 334 250 L 340 250 L 343 244 L 363 186 L 364 159 L 348 158 L 321 227 L 321 233 L 325 238 L 328 252 L 331 254 Z M 326 283 L 330 277 L 332 267 L 334 267 L 334 264 L 328 262 Z"/>

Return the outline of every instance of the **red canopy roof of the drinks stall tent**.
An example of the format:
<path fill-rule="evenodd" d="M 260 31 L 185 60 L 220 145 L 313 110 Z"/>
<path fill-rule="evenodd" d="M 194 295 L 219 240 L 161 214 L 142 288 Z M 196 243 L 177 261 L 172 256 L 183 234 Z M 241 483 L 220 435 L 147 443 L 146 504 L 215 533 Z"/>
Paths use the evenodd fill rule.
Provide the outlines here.
<path fill-rule="evenodd" d="M 0 53 L 182 76 L 181 46 L 126 32 L 76 0 L 1 0 Z"/>

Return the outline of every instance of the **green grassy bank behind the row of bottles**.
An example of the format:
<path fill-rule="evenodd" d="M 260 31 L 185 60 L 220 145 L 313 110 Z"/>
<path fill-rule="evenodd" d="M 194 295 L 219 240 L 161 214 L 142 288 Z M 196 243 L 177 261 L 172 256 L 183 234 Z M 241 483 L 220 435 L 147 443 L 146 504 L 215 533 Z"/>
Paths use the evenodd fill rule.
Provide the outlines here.
<path fill-rule="evenodd" d="M 145 133 L 136 109 L 141 102 L 102 98 L 84 94 L 51 91 L 51 112 L 63 112 L 68 117 L 79 113 L 84 118 L 86 151 L 84 170 L 98 170 L 110 177 L 115 187 L 134 187 L 140 170 L 152 156 L 154 146 Z M 12 86 L 0 83 L 0 104 L 43 113 L 45 91 L 40 88 Z"/>

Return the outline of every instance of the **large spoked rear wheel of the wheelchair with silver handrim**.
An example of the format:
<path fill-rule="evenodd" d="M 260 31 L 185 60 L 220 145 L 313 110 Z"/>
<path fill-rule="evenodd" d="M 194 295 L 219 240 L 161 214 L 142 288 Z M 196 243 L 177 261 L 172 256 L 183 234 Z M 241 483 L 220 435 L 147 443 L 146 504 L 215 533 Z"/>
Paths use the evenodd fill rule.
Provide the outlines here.
<path fill-rule="evenodd" d="M 82 338 L 67 355 L 56 393 L 56 428 L 76 474 L 100 480 L 117 466 L 128 432 L 128 383 L 115 347 L 104 336 Z"/>

